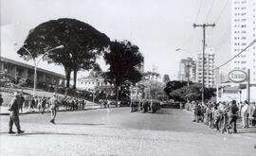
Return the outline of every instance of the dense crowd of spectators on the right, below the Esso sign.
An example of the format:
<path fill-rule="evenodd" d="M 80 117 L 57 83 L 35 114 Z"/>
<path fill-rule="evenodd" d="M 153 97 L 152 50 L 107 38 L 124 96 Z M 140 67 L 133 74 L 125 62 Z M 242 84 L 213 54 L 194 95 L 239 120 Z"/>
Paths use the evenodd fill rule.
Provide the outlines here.
<path fill-rule="evenodd" d="M 243 128 L 256 126 L 256 103 L 248 101 L 237 103 L 235 100 L 229 102 L 187 102 L 185 109 L 194 113 L 193 122 L 202 122 L 211 129 L 222 133 L 236 133 L 237 119 L 242 118 Z"/>

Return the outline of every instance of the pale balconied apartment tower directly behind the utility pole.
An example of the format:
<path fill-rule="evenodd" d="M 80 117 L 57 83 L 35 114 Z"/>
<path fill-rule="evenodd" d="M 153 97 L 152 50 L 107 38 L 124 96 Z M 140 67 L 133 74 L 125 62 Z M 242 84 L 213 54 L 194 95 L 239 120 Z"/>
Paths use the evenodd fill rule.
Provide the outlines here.
<path fill-rule="evenodd" d="M 206 48 L 205 51 L 205 87 L 215 87 L 215 54 L 213 48 Z M 203 83 L 203 54 L 197 54 L 196 82 Z"/>

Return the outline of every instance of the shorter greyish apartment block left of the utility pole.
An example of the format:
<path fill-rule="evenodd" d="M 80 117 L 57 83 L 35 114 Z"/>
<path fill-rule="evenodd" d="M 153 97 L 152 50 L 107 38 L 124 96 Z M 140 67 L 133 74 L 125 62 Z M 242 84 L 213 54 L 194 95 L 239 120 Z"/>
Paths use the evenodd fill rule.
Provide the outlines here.
<path fill-rule="evenodd" d="M 182 59 L 179 61 L 178 80 L 195 82 L 196 62 L 192 58 Z"/>

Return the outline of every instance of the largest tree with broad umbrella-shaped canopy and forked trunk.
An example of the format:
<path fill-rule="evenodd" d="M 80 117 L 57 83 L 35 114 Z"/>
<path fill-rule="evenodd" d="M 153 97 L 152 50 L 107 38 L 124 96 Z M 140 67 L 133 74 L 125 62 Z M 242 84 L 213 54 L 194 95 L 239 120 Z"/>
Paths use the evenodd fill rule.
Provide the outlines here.
<path fill-rule="evenodd" d="M 52 51 L 49 62 L 64 66 L 66 87 L 69 87 L 70 74 L 74 72 L 74 88 L 76 88 L 77 72 L 89 70 L 96 65 L 96 58 L 108 46 L 109 38 L 99 30 L 76 19 L 61 18 L 50 20 L 30 30 L 24 47 L 36 58 L 58 45 L 64 49 Z M 18 52 L 28 56 L 24 48 Z M 27 57 L 29 58 L 29 57 Z"/>

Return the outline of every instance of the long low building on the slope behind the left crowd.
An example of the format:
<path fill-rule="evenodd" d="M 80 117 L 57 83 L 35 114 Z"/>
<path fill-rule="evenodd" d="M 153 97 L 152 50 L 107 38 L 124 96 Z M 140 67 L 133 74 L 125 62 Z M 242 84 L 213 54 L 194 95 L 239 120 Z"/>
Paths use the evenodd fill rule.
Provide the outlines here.
<path fill-rule="evenodd" d="M 34 66 L 20 61 L 13 61 L 1 57 L 0 62 L 1 78 L 23 78 L 34 81 Z M 37 82 L 53 87 L 64 84 L 64 75 L 54 73 L 42 68 L 37 68 Z"/>

